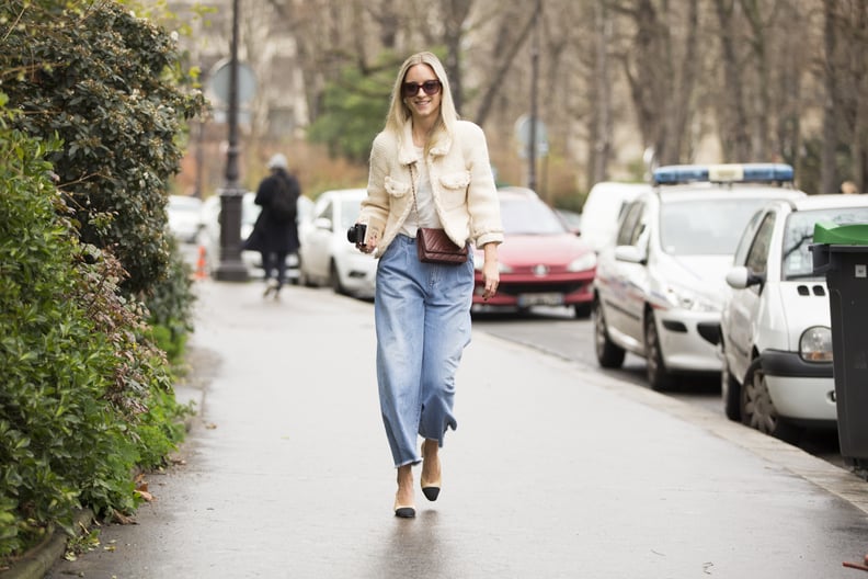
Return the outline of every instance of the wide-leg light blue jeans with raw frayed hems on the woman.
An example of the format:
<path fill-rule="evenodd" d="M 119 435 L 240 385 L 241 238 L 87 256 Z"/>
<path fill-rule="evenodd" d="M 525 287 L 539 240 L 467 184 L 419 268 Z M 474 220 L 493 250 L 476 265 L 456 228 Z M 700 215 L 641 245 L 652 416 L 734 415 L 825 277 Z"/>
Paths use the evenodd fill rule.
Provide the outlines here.
<path fill-rule="evenodd" d="M 460 265 L 422 263 L 415 239 L 399 235 L 377 265 L 374 318 L 380 410 L 395 466 L 418 464 L 416 436 L 443 446 L 455 373 L 470 343 L 473 257 Z"/>

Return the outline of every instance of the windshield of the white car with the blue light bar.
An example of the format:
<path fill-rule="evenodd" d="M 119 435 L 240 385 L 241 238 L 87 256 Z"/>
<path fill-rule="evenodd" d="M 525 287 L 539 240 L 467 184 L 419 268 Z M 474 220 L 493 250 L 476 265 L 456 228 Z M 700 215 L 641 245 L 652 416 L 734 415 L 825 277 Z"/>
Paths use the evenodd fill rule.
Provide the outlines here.
<path fill-rule="evenodd" d="M 660 242 L 672 256 L 731 256 L 767 198 L 671 201 L 660 208 Z"/>

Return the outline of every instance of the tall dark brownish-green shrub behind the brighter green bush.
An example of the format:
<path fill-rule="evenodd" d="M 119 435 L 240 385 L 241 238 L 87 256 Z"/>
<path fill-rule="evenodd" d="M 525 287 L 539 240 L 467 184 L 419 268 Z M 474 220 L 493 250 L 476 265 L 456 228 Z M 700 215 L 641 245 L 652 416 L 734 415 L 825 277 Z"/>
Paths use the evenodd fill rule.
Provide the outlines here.
<path fill-rule="evenodd" d="M 14 23 L 15 25 L 10 25 Z M 0 82 L 25 114 L 18 128 L 59 137 L 48 160 L 70 194 L 84 242 L 111 248 L 126 295 L 165 279 L 168 180 L 182 122 L 202 111 L 184 92 L 175 42 L 117 2 L 0 2 Z"/>

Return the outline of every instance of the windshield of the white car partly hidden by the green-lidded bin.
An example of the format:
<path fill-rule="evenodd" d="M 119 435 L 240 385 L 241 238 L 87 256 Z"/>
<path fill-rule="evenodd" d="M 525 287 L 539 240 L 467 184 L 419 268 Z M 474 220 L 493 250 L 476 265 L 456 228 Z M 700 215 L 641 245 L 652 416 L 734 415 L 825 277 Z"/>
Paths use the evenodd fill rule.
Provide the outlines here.
<path fill-rule="evenodd" d="M 836 207 L 791 213 L 784 227 L 781 275 L 784 280 L 813 277 L 813 229 L 818 222 L 835 225 L 868 223 L 868 207 Z"/>

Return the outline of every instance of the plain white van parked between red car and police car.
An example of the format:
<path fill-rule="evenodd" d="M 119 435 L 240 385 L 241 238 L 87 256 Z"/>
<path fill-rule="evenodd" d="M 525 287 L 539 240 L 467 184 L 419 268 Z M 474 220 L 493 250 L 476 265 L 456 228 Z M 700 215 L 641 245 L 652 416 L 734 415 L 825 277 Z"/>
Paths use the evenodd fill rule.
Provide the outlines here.
<path fill-rule="evenodd" d="M 640 193 L 651 191 L 648 183 L 601 181 L 591 188 L 582 207 L 581 234 L 597 253 L 614 242 L 621 211 Z"/>

